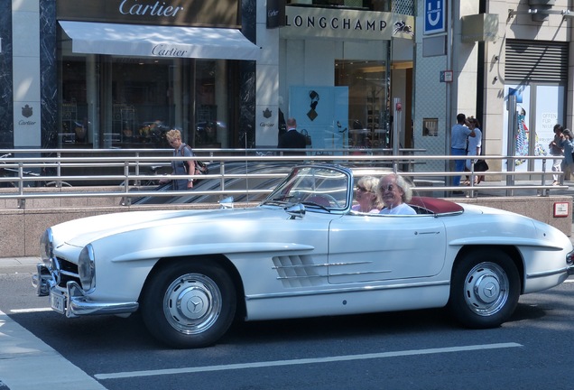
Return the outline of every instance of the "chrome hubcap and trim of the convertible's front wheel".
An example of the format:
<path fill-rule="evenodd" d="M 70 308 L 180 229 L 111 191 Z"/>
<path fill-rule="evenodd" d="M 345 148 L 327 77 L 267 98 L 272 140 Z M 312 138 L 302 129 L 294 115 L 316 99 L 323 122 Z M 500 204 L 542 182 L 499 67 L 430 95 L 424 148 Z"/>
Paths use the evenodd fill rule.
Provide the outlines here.
<path fill-rule="evenodd" d="M 219 318 L 222 296 L 218 284 L 204 274 L 184 274 L 163 297 L 163 314 L 174 330 L 199 334 Z"/>

